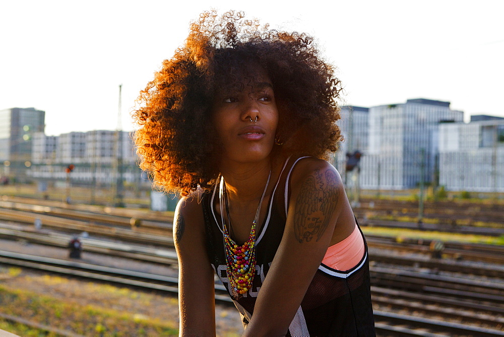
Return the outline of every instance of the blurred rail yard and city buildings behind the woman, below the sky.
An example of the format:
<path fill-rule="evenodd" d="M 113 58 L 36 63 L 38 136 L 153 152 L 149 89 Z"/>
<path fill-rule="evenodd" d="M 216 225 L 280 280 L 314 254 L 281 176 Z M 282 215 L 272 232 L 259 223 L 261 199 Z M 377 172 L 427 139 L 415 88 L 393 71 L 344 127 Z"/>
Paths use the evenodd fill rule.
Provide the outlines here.
<path fill-rule="evenodd" d="M 504 335 L 504 118 L 419 98 L 338 124 L 376 334 Z M 0 335 L 178 335 L 177 199 L 119 127 L 44 129 L 42 110 L 0 111 Z M 241 335 L 214 291 L 216 334 Z"/>

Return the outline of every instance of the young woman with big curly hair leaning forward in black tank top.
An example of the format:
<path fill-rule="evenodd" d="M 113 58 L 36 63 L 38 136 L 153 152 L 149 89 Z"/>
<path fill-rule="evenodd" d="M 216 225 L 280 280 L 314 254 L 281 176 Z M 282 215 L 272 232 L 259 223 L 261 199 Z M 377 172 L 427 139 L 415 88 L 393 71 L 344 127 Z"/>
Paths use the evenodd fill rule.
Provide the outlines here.
<path fill-rule="evenodd" d="M 203 13 L 142 91 L 141 167 L 180 200 L 181 335 L 214 335 L 214 273 L 247 336 L 373 335 L 367 247 L 340 175 L 340 91 L 305 34 Z"/>

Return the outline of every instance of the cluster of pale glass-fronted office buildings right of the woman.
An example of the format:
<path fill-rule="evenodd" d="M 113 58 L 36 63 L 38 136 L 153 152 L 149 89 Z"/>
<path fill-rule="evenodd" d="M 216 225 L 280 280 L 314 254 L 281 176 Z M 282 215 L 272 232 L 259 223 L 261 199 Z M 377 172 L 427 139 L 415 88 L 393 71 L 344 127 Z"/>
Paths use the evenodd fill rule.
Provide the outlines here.
<path fill-rule="evenodd" d="M 450 102 L 424 98 L 343 106 L 341 115 L 346 140 L 335 156 L 338 171 L 347 175 L 347 158 L 361 156 L 359 178 L 347 185 L 504 192 L 504 118 L 477 115 L 464 123 L 463 111 L 450 109 Z"/>

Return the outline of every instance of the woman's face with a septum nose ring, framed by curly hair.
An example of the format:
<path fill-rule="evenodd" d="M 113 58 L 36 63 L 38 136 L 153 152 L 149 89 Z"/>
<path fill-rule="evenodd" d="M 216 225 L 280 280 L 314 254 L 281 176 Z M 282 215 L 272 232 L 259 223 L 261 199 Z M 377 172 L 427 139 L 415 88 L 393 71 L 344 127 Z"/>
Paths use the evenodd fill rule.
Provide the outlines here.
<path fill-rule="evenodd" d="M 258 71 L 253 81 L 243 83 L 240 88 L 221 90 L 214 99 L 213 124 L 224 161 L 263 160 L 275 141 L 278 110 L 271 80 L 265 71 Z"/>

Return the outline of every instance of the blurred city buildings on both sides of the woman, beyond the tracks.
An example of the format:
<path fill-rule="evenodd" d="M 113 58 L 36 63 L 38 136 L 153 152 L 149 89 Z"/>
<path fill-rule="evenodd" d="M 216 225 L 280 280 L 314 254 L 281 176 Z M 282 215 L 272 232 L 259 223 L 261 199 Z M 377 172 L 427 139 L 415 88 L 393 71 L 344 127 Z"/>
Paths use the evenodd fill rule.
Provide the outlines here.
<path fill-rule="evenodd" d="M 450 102 L 419 98 L 343 106 L 338 124 L 345 141 L 334 164 L 351 191 L 400 193 L 425 186 L 495 196 L 504 192 L 504 118 L 478 115 L 464 123 L 463 111 L 452 110 Z M 47 136 L 44 127 L 43 110 L 0 110 L 2 184 L 37 184 L 40 192 L 70 186 L 106 189 L 116 205 L 126 192 L 138 197 L 151 190 L 128 132 Z"/>

